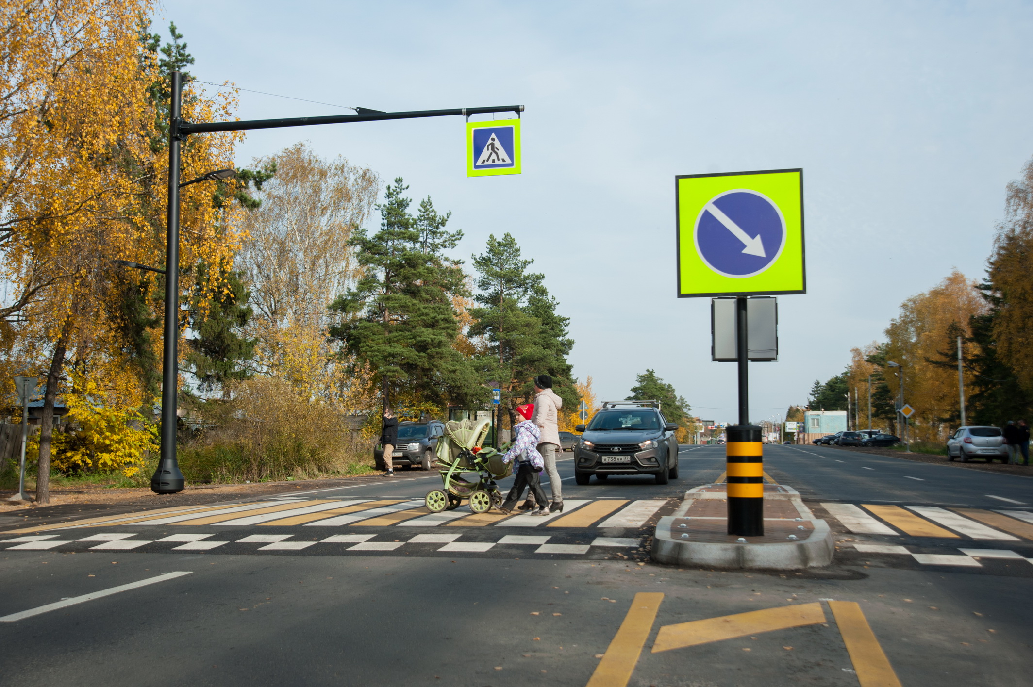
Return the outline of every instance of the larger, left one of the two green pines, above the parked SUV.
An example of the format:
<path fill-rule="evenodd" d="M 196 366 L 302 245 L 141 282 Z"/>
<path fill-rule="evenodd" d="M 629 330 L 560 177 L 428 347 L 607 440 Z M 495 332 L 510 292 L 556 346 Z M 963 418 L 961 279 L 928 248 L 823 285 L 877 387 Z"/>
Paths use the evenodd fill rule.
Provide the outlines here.
<path fill-rule="evenodd" d="M 462 261 L 448 258 L 463 238 L 445 228 L 428 197 L 414 217 L 401 178 L 388 185 L 380 230 L 357 229 L 350 245 L 365 276 L 331 310 L 342 321 L 331 337 L 375 370 L 384 402 L 448 402 L 469 407 L 487 397 L 471 362 L 452 344 L 459 335 L 452 295 L 465 295 Z"/>

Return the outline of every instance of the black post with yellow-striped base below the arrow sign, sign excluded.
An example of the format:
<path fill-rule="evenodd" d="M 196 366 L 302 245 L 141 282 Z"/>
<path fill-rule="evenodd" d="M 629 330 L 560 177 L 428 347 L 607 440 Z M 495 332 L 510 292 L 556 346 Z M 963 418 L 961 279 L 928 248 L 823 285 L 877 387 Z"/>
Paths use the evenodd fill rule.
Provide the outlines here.
<path fill-rule="evenodd" d="M 764 533 L 764 466 L 760 428 L 750 425 L 747 301 L 735 299 L 735 357 L 739 364 L 739 425 L 725 432 L 728 480 L 728 534 Z"/>

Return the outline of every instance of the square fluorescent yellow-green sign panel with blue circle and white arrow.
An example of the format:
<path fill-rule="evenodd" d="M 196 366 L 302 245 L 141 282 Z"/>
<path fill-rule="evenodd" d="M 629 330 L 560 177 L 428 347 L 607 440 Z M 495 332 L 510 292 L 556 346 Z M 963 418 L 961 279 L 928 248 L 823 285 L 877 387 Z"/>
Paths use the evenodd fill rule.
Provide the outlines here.
<path fill-rule="evenodd" d="M 675 178 L 678 295 L 806 293 L 804 170 Z"/>

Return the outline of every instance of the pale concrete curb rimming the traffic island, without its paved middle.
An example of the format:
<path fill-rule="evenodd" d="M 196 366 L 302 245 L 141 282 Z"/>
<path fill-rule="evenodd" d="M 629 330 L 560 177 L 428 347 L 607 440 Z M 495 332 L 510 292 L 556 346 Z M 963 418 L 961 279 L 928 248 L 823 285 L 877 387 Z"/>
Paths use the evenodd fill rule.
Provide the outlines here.
<path fill-rule="evenodd" d="M 799 570 L 823 567 L 832 563 L 836 551 L 832 529 L 823 520 L 814 518 L 804 505 L 800 494 L 784 485 L 769 486 L 764 498 L 788 500 L 800 513 L 801 521 L 809 521 L 813 530 L 806 539 L 774 542 L 708 542 L 686 541 L 675 538 L 671 527 L 675 521 L 685 518 L 695 499 L 724 499 L 720 485 L 703 485 L 685 494 L 685 502 L 672 516 L 661 518 L 653 535 L 653 560 L 670 565 L 697 565 L 749 570 Z"/>

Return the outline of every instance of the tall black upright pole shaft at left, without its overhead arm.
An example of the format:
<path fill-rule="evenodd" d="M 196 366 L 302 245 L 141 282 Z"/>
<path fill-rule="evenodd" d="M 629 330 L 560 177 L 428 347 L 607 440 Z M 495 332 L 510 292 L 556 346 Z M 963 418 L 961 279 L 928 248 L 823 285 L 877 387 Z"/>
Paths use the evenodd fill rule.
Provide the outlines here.
<path fill-rule="evenodd" d="M 165 228 L 165 331 L 161 364 L 161 460 L 151 477 L 155 494 L 176 494 L 185 486 L 176 460 L 177 384 L 180 339 L 180 100 L 183 76 L 174 71 L 168 108 L 168 223 Z"/>

